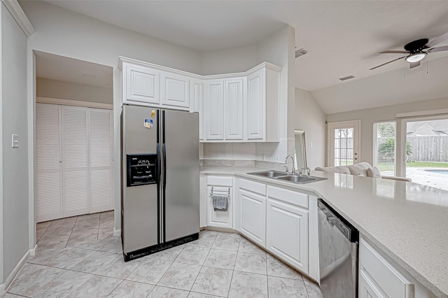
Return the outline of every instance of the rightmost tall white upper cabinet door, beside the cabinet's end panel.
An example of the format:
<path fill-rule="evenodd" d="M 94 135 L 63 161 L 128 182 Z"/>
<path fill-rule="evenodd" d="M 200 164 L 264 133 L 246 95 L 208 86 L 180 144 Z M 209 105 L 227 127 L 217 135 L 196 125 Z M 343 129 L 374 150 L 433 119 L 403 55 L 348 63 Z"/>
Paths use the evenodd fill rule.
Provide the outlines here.
<path fill-rule="evenodd" d="M 262 140 L 265 136 L 265 69 L 247 78 L 247 139 Z"/>

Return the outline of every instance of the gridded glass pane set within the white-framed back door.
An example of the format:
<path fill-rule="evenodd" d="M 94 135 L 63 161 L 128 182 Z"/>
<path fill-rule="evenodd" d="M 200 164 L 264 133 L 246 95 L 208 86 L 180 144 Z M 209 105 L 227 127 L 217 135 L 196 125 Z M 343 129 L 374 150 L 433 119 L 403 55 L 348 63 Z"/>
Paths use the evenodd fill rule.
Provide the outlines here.
<path fill-rule="evenodd" d="M 335 129 L 335 166 L 353 164 L 353 127 Z"/>

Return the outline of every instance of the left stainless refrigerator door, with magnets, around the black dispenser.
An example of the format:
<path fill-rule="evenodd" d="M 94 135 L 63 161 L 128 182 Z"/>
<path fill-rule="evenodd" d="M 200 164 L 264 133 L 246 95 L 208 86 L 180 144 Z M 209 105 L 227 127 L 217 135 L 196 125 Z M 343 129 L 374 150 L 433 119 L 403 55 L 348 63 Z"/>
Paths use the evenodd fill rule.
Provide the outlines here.
<path fill-rule="evenodd" d="M 138 185 L 127 187 L 128 154 L 156 154 L 158 142 L 158 122 L 152 117 L 151 108 L 123 105 L 123 199 L 122 229 L 123 252 L 158 244 L 158 185 Z M 148 125 L 152 121 L 151 125 Z"/>

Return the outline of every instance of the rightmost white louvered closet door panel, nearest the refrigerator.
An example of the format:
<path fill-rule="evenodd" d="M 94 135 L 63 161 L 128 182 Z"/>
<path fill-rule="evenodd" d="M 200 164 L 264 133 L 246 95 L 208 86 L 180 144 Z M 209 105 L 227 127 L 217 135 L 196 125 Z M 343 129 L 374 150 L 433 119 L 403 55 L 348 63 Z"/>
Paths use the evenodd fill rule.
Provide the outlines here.
<path fill-rule="evenodd" d="M 89 108 L 90 213 L 113 209 L 112 111 Z"/>

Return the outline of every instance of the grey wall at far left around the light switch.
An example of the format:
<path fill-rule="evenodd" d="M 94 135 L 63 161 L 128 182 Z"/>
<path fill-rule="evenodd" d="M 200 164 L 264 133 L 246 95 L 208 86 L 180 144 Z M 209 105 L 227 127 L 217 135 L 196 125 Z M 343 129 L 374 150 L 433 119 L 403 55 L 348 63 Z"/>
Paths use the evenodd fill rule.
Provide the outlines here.
<path fill-rule="evenodd" d="M 4 283 L 28 251 L 27 36 L 1 3 L 2 187 L 0 237 Z M 12 148 L 11 135 L 19 135 Z M 3 210 L 1 210 L 3 209 Z M 3 217 L 3 218 L 1 218 Z"/>

